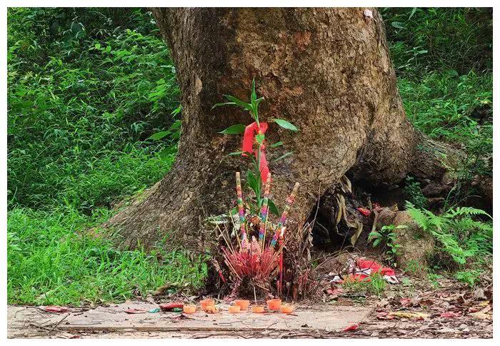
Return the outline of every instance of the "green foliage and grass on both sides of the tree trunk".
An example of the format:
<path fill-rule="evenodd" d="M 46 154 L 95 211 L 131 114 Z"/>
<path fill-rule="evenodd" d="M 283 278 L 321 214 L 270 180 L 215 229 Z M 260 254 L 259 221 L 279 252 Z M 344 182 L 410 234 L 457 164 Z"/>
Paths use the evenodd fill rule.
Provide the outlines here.
<path fill-rule="evenodd" d="M 491 11 L 382 14 L 411 121 L 464 148 L 464 181 L 491 174 Z M 11 8 L 7 60 L 9 302 L 78 305 L 146 295 L 166 281 L 199 285 L 198 259 L 161 244 L 153 253 L 119 250 L 96 228 L 175 158 L 179 88 L 151 15 Z M 408 181 L 409 200 L 424 208 Z M 461 248 L 481 234 L 489 251 L 489 231 L 466 234 Z"/>

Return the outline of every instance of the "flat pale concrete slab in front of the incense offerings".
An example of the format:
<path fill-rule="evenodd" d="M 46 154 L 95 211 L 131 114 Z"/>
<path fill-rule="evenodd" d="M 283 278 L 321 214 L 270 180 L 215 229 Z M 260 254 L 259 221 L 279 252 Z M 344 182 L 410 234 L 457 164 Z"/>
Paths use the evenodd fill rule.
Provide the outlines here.
<path fill-rule="evenodd" d="M 219 305 L 219 313 L 196 311 L 192 315 L 179 312 L 155 312 L 151 302 L 124 302 L 100 306 L 92 310 L 70 308 L 68 312 L 46 312 L 40 307 L 8 307 L 8 337 L 194 337 L 236 333 L 252 335 L 263 332 L 295 332 L 297 334 L 334 332 L 362 322 L 373 307 L 297 305 L 293 314 L 279 312 L 230 314 L 228 305 Z M 128 309 L 144 313 L 128 314 Z M 154 334 L 154 335 L 151 335 Z"/>

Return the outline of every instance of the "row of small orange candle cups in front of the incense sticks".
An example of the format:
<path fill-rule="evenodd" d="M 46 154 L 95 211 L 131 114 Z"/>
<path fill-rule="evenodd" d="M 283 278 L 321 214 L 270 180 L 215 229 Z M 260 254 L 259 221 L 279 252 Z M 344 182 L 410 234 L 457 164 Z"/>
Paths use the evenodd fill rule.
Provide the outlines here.
<path fill-rule="evenodd" d="M 272 311 L 281 311 L 284 314 L 290 314 L 294 311 L 294 307 L 289 304 L 281 305 L 281 299 L 270 299 L 266 301 L 267 307 Z M 218 310 L 215 307 L 215 302 L 213 299 L 205 299 L 200 302 L 201 310 L 204 312 L 215 313 Z M 239 299 L 234 301 L 234 305 L 231 305 L 228 309 L 229 313 L 239 313 L 248 310 L 250 305 L 250 300 Z M 196 305 L 184 305 L 184 313 L 192 314 L 196 312 Z M 264 305 L 252 305 L 251 312 L 263 313 Z"/>

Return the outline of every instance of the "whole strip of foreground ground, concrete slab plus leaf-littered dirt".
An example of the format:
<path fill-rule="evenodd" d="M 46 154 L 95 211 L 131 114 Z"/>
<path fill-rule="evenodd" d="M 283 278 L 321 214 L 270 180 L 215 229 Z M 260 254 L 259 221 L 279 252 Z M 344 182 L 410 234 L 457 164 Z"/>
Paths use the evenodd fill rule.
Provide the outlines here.
<path fill-rule="evenodd" d="M 442 279 L 429 289 L 419 279 L 391 285 L 381 297 L 333 288 L 322 302 L 279 312 L 229 314 L 156 311 L 153 301 L 93 309 L 8 307 L 9 338 L 491 338 L 492 292 Z M 156 310 L 154 310 L 156 309 Z M 127 313 L 138 312 L 138 313 Z"/>

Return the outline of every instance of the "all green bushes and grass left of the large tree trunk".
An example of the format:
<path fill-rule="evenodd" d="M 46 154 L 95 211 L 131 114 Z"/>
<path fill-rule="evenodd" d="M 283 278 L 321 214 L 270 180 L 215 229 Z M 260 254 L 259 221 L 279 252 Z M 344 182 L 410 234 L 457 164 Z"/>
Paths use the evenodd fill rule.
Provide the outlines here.
<path fill-rule="evenodd" d="M 9 9 L 8 43 L 9 302 L 78 305 L 167 281 L 199 285 L 206 267 L 184 253 L 164 253 L 163 265 L 86 231 L 175 158 L 179 88 L 151 16 Z M 149 139 L 159 131 L 167 136 Z"/>

